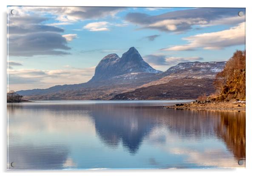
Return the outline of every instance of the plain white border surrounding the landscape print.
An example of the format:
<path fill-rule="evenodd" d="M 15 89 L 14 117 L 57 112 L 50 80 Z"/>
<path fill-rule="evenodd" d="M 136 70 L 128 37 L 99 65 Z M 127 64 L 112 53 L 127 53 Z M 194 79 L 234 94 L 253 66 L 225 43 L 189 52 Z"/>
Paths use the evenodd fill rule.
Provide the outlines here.
<path fill-rule="evenodd" d="M 219 174 L 232 174 L 233 176 L 241 175 L 253 175 L 256 166 L 254 166 L 255 159 L 255 113 L 253 112 L 253 101 L 256 100 L 255 96 L 255 67 L 256 67 L 256 38 L 255 38 L 255 19 L 256 7 L 253 5 L 252 0 L 93 0 L 93 1 L 82 1 L 82 0 L 8 0 L 7 2 L 1 1 L 1 159 L 0 166 L 1 171 L 4 172 L 3 175 L 46 175 L 50 171 L 41 172 L 14 172 L 6 171 L 6 131 L 7 131 L 7 121 L 6 121 L 6 10 L 7 5 L 45 5 L 45 6 L 147 6 L 147 7 L 245 7 L 246 8 L 246 50 L 247 50 L 247 63 L 246 63 L 246 80 L 247 80 L 247 109 L 246 109 L 246 169 L 207 169 L 207 170 L 197 170 L 197 169 L 187 169 L 187 170 L 83 170 L 83 171 L 54 171 L 54 175 L 66 176 L 66 175 L 168 175 L 170 174 L 181 174 L 189 176 L 216 176 Z M 7 173 L 6 173 L 7 172 Z M 71 173 L 72 172 L 72 173 Z M 50 173 L 53 174 L 53 173 Z"/>

